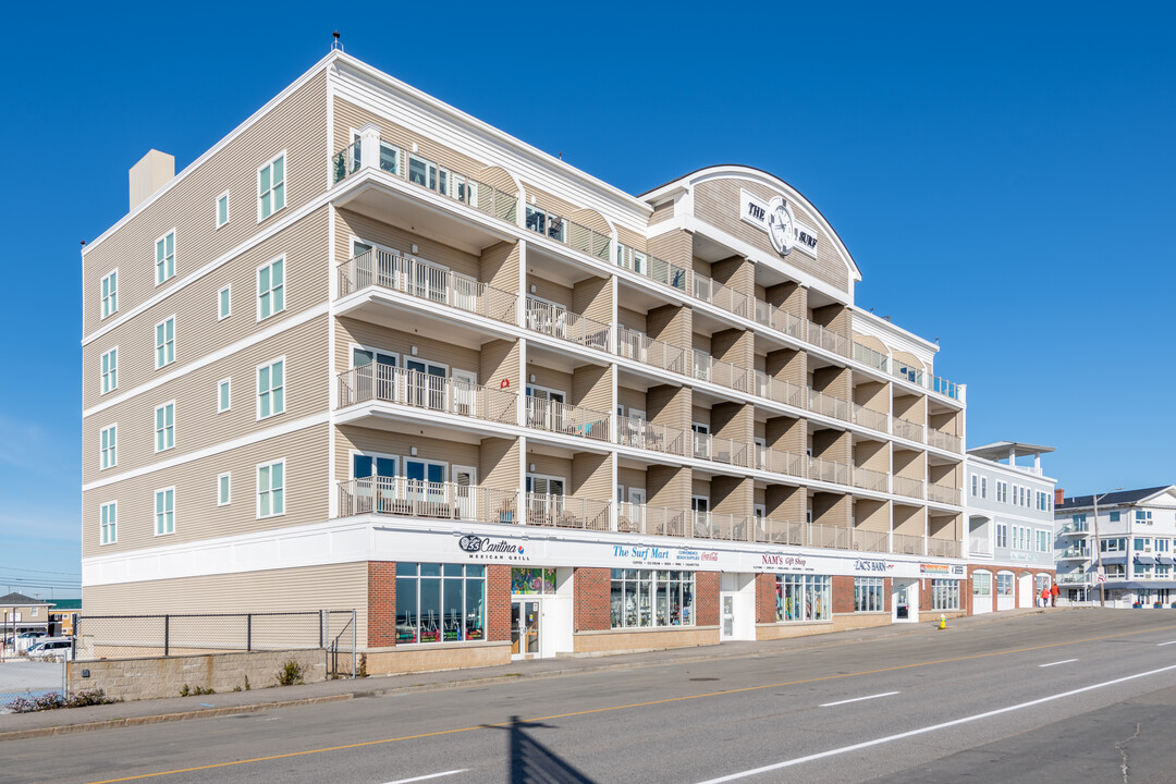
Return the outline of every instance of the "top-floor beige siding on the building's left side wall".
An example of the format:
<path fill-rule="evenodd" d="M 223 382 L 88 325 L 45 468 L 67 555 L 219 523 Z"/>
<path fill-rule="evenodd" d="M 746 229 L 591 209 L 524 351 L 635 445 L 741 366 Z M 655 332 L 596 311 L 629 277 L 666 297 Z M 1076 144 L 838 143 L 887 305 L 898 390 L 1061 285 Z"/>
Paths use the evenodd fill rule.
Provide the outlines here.
<path fill-rule="evenodd" d="M 323 73 L 313 76 L 149 208 L 88 250 L 82 261 L 82 334 L 89 335 L 100 326 L 101 280 L 115 267 L 119 315 L 122 315 L 323 193 L 326 133 Z M 259 226 L 258 168 L 283 149 L 286 208 Z M 216 197 L 226 189 L 229 221 L 216 229 Z M 173 227 L 175 277 L 156 288 L 155 239 Z"/>

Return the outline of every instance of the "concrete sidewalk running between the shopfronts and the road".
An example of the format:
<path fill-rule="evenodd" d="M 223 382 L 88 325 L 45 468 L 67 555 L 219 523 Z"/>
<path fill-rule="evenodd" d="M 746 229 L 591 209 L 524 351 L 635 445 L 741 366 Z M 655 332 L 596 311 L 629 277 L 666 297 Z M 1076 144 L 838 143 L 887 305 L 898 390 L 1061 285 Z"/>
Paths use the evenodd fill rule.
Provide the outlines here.
<path fill-rule="evenodd" d="M 998 614 L 954 618 L 954 629 L 1011 621 L 1045 612 L 1074 611 L 1069 608 L 1027 608 Z M 143 699 L 113 705 L 92 705 L 71 710 L 51 710 L 36 713 L 0 715 L 0 742 L 21 738 L 85 732 L 89 730 L 175 722 L 191 718 L 246 713 L 274 708 L 310 705 L 322 702 L 374 697 L 432 689 L 455 689 L 472 684 L 514 681 L 517 678 L 552 678 L 580 672 L 627 670 L 642 666 L 662 666 L 719 658 L 777 656 L 790 651 L 813 650 L 833 645 L 850 645 L 870 639 L 898 635 L 948 634 L 937 630 L 936 623 L 891 624 L 873 629 L 855 629 L 826 635 L 776 639 L 770 642 L 727 642 L 721 645 L 680 648 L 617 656 L 561 657 L 512 662 L 500 666 L 441 672 L 413 672 L 359 679 L 323 681 L 296 686 L 230 691 L 199 697 Z"/>

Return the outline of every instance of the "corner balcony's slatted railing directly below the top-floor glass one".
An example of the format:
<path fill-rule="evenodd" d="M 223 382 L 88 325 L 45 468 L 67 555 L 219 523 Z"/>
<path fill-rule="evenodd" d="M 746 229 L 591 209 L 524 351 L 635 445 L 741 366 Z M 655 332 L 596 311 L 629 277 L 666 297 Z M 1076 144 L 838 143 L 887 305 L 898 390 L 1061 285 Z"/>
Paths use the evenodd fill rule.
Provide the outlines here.
<path fill-rule="evenodd" d="M 429 304 L 515 323 L 517 295 L 388 250 L 368 250 L 339 264 L 340 296 L 368 286 L 400 292 Z"/>

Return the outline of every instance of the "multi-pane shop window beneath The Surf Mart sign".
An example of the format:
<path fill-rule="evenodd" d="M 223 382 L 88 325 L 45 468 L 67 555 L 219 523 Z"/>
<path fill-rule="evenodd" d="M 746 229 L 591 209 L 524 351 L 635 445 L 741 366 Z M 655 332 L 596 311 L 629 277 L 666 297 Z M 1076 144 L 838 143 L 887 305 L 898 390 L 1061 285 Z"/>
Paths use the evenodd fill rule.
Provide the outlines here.
<path fill-rule="evenodd" d="M 614 629 L 694 625 L 694 572 L 614 569 Z"/>

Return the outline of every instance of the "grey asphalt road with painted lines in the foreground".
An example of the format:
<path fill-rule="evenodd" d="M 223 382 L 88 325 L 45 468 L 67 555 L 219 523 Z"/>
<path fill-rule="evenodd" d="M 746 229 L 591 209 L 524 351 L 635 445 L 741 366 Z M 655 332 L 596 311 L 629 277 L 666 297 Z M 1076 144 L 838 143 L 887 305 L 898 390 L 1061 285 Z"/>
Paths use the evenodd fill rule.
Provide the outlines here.
<path fill-rule="evenodd" d="M 1174 782 L 1176 612 L 0 744 L 4 782 Z"/>

